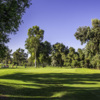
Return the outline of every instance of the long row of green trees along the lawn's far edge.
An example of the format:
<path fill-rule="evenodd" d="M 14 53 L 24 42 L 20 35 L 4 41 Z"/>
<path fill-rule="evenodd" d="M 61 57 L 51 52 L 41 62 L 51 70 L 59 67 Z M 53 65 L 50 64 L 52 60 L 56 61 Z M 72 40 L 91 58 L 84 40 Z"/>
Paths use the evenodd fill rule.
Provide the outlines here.
<path fill-rule="evenodd" d="M 92 27 L 79 27 L 74 34 L 81 44 L 86 43 L 85 48 L 78 48 L 77 51 L 73 47 L 65 46 L 63 43 L 55 43 L 44 41 L 44 30 L 39 26 L 33 26 L 28 30 L 28 38 L 25 41 L 25 48 L 17 49 L 10 57 L 11 51 L 8 49 L 4 62 L 16 63 L 18 65 L 45 67 L 72 67 L 72 68 L 100 68 L 100 20 L 93 19 Z"/>

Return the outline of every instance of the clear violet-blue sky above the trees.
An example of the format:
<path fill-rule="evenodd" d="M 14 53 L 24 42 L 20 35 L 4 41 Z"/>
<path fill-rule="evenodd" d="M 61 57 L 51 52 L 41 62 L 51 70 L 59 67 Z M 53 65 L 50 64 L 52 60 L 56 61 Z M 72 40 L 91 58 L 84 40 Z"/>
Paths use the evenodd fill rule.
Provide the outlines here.
<path fill-rule="evenodd" d="M 100 0 L 32 0 L 32 5 L 26 9 L 22 23 L 16 35 L 10 35 L 7 44 L 12 51 L 25 49 L 28 29 L 39 26 L 44 30 L 43 41 L 52 45 L 59 42 L 65 46 L 84 48 L 86 44 L 74 36 L 81 26 L 90 26 L 92 19 L 100 19 Z M 27 50 L 25 50 L 27 52 Z"/>

